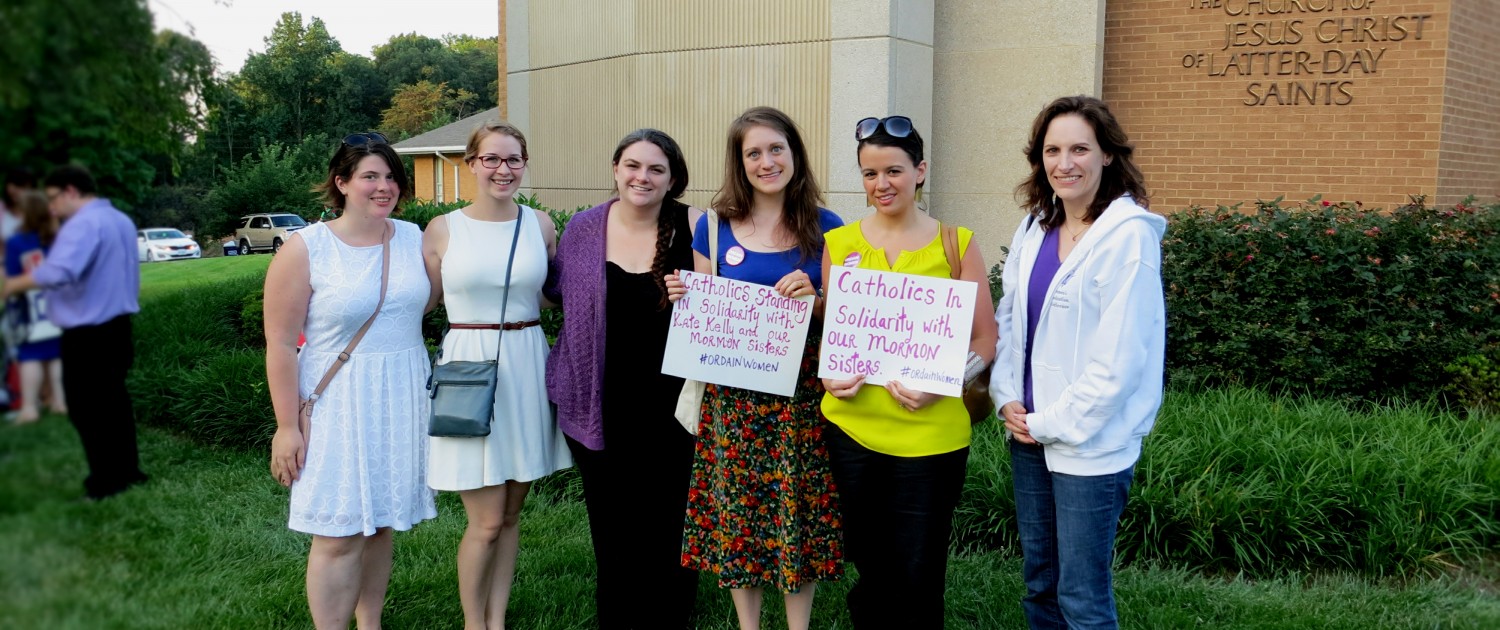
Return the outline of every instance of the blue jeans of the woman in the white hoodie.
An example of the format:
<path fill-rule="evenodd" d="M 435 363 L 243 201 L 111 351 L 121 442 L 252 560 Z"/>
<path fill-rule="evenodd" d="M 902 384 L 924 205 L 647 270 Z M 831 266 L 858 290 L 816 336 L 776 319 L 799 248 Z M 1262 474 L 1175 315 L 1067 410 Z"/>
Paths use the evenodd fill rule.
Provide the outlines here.
<path fill-rule="evenodd" d="M 1116 628 L 1114 531 L 1136 466 L 1078 477 L 1047 470 L 1041 446 L 1011 441 L 1022 609 L 1032 628 Z"/>

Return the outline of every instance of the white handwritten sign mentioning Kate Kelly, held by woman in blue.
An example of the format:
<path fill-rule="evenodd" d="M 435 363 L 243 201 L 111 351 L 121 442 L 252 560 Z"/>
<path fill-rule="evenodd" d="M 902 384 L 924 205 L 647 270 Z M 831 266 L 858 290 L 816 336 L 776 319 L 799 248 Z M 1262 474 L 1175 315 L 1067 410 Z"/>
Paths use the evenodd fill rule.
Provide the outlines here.
<path fill-rule="evenodd" d="M 687 292 L 672 308 L 662 374 L 790 396 L 802 364 L 813 297 L 682 272 Z"/>

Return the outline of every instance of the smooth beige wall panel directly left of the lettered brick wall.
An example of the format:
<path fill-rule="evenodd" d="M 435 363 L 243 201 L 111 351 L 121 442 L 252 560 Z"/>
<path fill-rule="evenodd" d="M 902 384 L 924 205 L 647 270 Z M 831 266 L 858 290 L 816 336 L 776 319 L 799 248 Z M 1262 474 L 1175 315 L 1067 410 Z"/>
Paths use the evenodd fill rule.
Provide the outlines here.
<path fill-rule="evenodd" d="M 970 226 L 986 261 L 1024 216 L 1012 190 L 1041 108 L 1098 94 L 1102 0 L 946 0 L 934 8 L 933 216 Z"/>

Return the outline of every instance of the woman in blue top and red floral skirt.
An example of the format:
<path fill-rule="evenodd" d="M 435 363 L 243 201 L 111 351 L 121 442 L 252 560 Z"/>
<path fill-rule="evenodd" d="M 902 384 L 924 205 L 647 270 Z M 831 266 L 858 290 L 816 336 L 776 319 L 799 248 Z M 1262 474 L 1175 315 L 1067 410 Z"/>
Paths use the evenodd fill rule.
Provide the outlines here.
<path fill-rule="evenodd" d="M 729 126 L 724 183 L 712 201 L 720 276 L 774 286 L 786 297 L 820 292 L 824 232 L 843 220 L 819 207 L 822 195 L 807 166 L 802 136 L 782 111 L 752 108 Z M 693 250 L 694 270 L 710 273 L 706 214 L 698 220 Z M 732 590 L 741 628 L 760 627 L 766 586 L 786 594 L 788 627 L 806 628 L 813 586 L 843 572 L 818 412 L 824 390 L 816 320 L 813 327 L 790 398 L 714 384 L 704 394 L 682 566 L 714 573 Z"/>

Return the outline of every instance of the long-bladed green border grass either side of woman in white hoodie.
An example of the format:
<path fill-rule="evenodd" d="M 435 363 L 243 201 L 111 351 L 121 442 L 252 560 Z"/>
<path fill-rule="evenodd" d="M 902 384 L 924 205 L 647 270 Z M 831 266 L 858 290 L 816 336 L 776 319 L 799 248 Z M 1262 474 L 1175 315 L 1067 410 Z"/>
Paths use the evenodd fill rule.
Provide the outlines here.
<path fill-rule="evenodd" d="M 1017 548 L 1010 454 L 976 432 L 954 531 Z M 1227 388 L 1172 392 L 1136 466 L 1124 561 L 1270 576 L 1432 573 L 1500 543 L 1500 418 Z"/>

